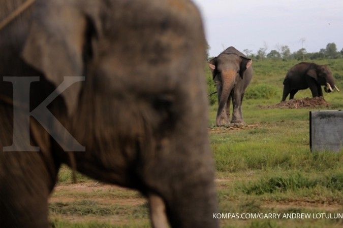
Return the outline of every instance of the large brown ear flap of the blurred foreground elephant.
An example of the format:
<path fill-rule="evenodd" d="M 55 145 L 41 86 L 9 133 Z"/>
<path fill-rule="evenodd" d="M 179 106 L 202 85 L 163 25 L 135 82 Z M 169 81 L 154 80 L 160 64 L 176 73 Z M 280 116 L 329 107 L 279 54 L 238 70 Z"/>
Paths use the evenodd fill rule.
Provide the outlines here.
<path fill-rule="evenodd" d="M 87 19 L 69 1 L 38 1 L 22 57 L 58 87 L 64 77 L 84 76 Z M 69 114 L 77 107 L 81 83 L 62 93 Z"/>

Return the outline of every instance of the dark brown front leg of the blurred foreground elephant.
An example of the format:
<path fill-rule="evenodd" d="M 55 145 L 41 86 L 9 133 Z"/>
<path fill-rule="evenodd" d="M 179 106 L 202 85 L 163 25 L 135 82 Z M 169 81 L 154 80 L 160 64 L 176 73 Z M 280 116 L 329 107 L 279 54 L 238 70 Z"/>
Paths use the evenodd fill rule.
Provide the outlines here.
<path fill-rule="evenodd" d="M 13 122 L 19 124 L 25 118 L 17 116 L 13 120 L 12 113 L 12 108 L 0 106 L 0 227 L 46 228 L 48 197 L 59 162 L 47 150 L 50 137 L 36 121 L 30 123 L 31 144 L 40 146 L 40 151 L 3 151 L 4 146 L 12 144 Z"/>

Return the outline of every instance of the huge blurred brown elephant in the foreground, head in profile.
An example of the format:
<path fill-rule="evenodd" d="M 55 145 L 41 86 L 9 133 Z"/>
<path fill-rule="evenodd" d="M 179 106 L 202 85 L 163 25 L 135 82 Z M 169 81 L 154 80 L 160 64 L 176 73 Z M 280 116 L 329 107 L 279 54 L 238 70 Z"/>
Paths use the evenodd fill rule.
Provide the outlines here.
<path fill-rule="evenodd" d="M 0 20 L 23 2 L 0 0 Z M 81 173 L 147 196 L 155 227 L 167 219 L 172 227 L 218 226 L 205 42 L 193 4 L 41 0 L 0 37 L 0 75 L 40 77 L 30 88 L 31 108 L 64 77 L 85 76 L 48 108 L 86 147 L 68 155 L 32 119 L 31 144 L 40 151 L 4 152 L 13 106 L 0 99 L 1 227 L 48 227 L 47 199 L 71 158 Z M 0 80 L 0 95 L 13 96 L 11 83 Z"/>

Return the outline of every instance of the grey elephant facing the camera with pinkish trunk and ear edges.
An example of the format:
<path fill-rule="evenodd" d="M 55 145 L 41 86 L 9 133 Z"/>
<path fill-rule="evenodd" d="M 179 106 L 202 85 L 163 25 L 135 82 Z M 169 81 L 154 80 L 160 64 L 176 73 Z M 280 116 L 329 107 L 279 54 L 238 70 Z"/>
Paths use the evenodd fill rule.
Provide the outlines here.
<path fill-rule="evenodd" d="M 208 63 L 216 84 L 219 107 L 216 126 L 230 123 L 230 100 L 232 99 L 231 123 L 243 123 L 242 101 L 244 92 L 253 77 L 252 59 L 234 47 L 229 47 Z"/>

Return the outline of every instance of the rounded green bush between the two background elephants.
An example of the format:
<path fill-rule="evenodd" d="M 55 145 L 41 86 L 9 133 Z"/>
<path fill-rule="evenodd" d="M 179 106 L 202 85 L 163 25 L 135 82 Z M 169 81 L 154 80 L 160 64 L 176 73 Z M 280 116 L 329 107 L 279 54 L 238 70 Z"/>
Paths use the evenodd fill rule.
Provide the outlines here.
<path fill-rule="evenodd" d="M 244 97 L 246 99 L 269 99 L 276 95 L 276 89 L 268 84 L 259 84 L 248 87 Z"/>

